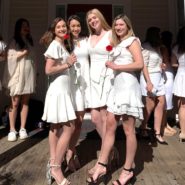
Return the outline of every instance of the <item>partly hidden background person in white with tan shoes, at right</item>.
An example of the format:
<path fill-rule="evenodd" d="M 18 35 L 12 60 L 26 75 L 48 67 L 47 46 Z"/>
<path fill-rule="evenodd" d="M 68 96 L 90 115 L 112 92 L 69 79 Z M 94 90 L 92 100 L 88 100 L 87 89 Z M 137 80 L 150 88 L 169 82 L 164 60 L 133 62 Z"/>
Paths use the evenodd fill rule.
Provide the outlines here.
<path fill-rule="evenodd" d="M 166 60 L 166 67 L 163 71 L 163 78 L 165 80 L 165 98 L 166 98 L 166 109 L 163 113 L 163 133 L 166 136 L 172 136 L 177 131 L 168 124 L 168 112 L 173 109 L 173 81 L 174 81 L 174 70 L 172 67 L 172 58 L 174 54 L 172 52 L 172 41 L 173 35 L 170 31 L 163 31 L 161 33 L 162 40 L 162 53 L 167 52 L 168 59 Z"/>

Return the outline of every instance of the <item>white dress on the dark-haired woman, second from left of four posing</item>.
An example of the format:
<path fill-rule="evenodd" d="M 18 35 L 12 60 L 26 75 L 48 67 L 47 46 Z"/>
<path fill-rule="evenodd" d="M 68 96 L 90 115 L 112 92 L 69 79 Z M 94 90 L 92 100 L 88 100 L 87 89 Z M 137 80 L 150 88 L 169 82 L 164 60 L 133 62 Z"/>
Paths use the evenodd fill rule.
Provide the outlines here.
<path fill-rule="evenodd" d="M 77 56 L 77 62 L 70 69 L 71 90 L 75 111 L 84 111 L 90 106 L 89 53 L 86 38 L 80 39 L 78 45 L 75 45 L 74 54 Z"/>

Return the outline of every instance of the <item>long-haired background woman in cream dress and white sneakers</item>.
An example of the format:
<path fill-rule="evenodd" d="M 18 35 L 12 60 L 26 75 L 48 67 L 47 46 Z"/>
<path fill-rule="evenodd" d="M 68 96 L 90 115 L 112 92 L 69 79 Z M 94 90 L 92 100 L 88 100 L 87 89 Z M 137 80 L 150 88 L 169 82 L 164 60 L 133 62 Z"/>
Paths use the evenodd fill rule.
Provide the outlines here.
<path fill-rule="evenodd" d="M 14 36 L 7 47 L 7 63 L 5 65 L 3 84 L 11 97 L 9 109 L 10 132 L 8 141 L 17 140 L 15 128 L 18 107 L 20 104 L 21 126 L 20 139 L 28 137 L 26 120 L 29 110 L 30 95 L 36 87 L 36 55 L 29 21 L 20 18 L 16 21 Z"/>

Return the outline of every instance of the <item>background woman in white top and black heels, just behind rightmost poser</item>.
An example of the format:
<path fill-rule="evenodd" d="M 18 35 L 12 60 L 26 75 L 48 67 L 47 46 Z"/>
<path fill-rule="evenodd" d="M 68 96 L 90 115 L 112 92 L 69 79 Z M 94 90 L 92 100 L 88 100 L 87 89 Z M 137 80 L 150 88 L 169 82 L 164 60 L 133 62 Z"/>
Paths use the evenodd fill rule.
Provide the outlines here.
<path fill-rule="evenodd" d="M 141 135 L 146 137 L 148 120 L 154 111 L 154 136 L 158 143 L 167 144 L 161 133 L 162 118 L 165 107 L 165 87 L 163 79 L 163 67 L 167 57 L 161 52 L 160 29 L 150 27 L 146 33 L 146 40 L 142 47 L 147 50 L 145 66 L 140 76 L 140 85 L 144 102 L 144 120 L 140 126 Z M 148 73 L 148 75 L 146 74 Z"/>

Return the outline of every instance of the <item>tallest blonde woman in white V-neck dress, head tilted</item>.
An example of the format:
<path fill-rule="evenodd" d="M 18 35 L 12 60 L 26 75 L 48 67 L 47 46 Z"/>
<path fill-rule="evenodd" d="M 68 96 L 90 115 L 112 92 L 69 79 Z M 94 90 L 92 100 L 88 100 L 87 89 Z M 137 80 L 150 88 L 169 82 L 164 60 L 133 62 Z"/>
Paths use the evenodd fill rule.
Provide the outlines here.
<path fill-rule="evenodd" d="M 90 55 L 90 108 L 91 120 L 101 138 L 105 131 L 106 101 L 110 91 L 111 70 L 106 70 L 108 59 L 106 46 L 110 45 L 110 27 L 97 9 L 87 12 L 86 21 L 90 33 L 88 49 Z M 106 72 L 106 74 L 105 74 Z"/>

